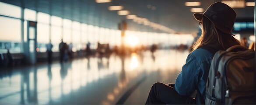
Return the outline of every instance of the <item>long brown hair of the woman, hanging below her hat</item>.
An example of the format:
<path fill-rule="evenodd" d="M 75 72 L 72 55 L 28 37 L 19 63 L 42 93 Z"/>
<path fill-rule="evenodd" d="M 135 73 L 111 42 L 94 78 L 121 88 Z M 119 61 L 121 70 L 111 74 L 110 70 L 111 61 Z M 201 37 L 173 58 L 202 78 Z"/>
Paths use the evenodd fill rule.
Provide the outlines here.
<path fill-rule="evenodd" d="M 240 45 L 240 42 L 232 35 L 217 29 L 208 18 L 203 16 L 202 35 L 193 45 L 193 50 L 202 45 L 214 45 L 217 49 L 226 50 L 233 45 Z"/>

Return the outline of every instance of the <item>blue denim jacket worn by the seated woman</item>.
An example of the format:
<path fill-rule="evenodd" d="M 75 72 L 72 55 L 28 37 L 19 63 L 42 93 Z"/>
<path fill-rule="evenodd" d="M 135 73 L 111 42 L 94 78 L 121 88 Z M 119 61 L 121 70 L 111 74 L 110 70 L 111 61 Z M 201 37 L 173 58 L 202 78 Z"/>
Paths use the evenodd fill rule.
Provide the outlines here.
<path fill-rule="evenodd" d="M 190 96 L 198 88 L 205 100 L 205 85 L 213 56 L 206 49 L 196 49 L 191 52 L 176 78 L 175 91 L 180 95 Z"/>

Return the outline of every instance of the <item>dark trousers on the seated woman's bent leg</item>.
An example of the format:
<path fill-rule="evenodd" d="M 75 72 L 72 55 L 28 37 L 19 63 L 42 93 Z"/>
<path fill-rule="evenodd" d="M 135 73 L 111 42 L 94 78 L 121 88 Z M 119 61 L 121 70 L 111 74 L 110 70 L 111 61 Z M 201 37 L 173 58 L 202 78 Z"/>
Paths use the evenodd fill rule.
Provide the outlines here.
<path fill-rule="evenodd" d="M 157 82 L 153 84 L 147 97 L 148 104 L 195 104 L 193 98 L 179 95 L 174 89 L 175 84 L 163 84 Z"/>

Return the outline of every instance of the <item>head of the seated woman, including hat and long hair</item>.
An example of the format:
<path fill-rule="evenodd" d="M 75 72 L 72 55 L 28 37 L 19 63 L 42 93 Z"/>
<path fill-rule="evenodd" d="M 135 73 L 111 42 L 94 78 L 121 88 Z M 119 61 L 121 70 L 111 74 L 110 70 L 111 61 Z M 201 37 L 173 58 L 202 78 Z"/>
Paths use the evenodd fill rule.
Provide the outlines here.
<path fill-rule="evenodd" d="M 228 17 L 232 18 L 232 20 L 228 20 L 227 17 L 222 18 L 220 15 L 224 15 L 224 13 L 228 11 L 220 11 L 214 8 L 218 6 L 224 6 L 224 8 L 228 8 L 228 11 L 231 11 L 231 16 Z M 212 15 L 209 16 L 208 14 Z M 237 39 L 235 39 L 231 33 L 231 29 L 233 28 L 235 22 L 236 14 L 235 11 L 228 5 L 217 2 L 212 4 L 207 9 L 207 11 L 205 11 L 204 14 L 198 13 L 194 14 L 194 16 L 196 20 L 200 21 L 203 24 L 203 28 L 202 35 L 196 41 L 195 45 L 193 45 L 193 50 L 197 49 L 201 45 L 214 45 L 223 50 L 228 49 L 232 45 L 240 45 L 240 42 Z M 223 22 L 223 20 L 227 20 L 228 22 Z"/>

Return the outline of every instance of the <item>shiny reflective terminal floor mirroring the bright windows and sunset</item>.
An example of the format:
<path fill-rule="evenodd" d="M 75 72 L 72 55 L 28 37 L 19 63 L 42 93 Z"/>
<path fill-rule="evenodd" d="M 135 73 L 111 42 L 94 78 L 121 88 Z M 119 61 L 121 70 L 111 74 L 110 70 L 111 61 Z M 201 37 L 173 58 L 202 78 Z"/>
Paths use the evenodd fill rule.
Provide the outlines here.
<path fill-rule="evenodd" d="M 188 54 L 158 50 L 1 68 L 0 104 L 144 104 L 152 84 L 175 82 Z"/>

